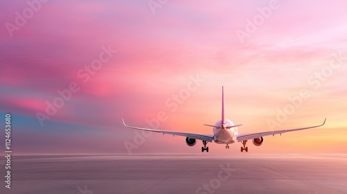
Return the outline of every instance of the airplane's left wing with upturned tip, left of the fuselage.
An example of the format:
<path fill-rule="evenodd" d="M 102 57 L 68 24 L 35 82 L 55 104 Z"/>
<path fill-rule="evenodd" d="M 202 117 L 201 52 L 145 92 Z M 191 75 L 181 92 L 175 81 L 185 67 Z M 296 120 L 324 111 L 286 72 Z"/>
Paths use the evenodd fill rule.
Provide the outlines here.
<path fill-rule="evenodd" d="M 158 132 L 158 133 L 162 133 L 162 134 L 173 134 L 178 135 L 178 136 L 186 136 L 192 139 L 199 139 L 202 141 L 208 141 L 208 142 L 212 142 L 213 139 L 213 134 L 192 134 L 192 133 L 186 133 L 186 132 L 173 132 L 173 131 L 164 131 L 164 130 L 153 130 L 153 129 L 146 129 L 146 128 L 141 128 L 141 127 L 132 127 L 129 125 L 126 125 L 126 123 L 124 123 L 124 119 L 121 119 L 123 121 L 124 126 L 128 127 L 128 128 L 132 128 L 135 130 L 143 130 L 143 131 L 149 131 L 149 132 Z"/>

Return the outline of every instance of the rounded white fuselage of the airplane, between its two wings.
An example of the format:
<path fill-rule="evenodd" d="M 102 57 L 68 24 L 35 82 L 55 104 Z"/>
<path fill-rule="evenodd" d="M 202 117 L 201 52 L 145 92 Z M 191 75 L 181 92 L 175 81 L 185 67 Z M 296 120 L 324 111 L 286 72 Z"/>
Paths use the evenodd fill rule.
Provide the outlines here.
<path fill-rule="evenodd" d="M 237 141 L 237 134 L 238 129 L 237 127 L 230 127 L 234 126 L 234 123 L 232 121 L 226 119 L 222 125 L 222 121 L 217 121 L 215 126 L 221 126 L 221 127 L 213 127 L 213 134 L 214 138 L 213 141 L 215 143 L 235 143 Z"/>

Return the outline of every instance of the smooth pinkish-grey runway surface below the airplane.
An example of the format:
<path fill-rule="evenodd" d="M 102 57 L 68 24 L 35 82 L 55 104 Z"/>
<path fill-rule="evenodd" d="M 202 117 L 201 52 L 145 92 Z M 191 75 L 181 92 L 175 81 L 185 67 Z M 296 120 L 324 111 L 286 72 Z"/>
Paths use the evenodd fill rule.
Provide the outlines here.
<path fill-rule="evenodd" d="M 347 155 L 17 156 L 0 193 L 347 193 Z"/>

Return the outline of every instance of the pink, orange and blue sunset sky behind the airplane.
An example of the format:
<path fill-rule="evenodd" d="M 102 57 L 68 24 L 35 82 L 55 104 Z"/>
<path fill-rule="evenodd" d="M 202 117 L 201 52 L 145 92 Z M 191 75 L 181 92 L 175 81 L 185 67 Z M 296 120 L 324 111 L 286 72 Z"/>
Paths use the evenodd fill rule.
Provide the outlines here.
<path fill-rule="evenodd" d="M 165 114 L 162 130 L 210 134 L 203 124 L 221 118 L 223 85 L 239 133 L 327 118 L 260 147 L 248 142 L 248 153 L 347 153 L 346 8 L 342 0 L 3 1 L 0 124 L 10 112 L 17 154 L 201 154 L 201 141 L 141 139 L 121 118 L 150 127 Z M 241 145 L 208 143 L 209 154 L 239 154 Z"/>

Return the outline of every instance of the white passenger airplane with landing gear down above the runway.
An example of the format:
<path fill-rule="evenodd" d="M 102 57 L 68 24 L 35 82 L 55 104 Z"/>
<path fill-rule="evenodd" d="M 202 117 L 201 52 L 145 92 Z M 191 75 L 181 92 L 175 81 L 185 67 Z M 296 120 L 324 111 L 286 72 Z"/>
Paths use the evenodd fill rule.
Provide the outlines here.
<path fill-rule="evenodd" d="M 213 127 L 213 134 L 195 134 L 195 133 L 187 133 L 187 132 L 174 132 L 174 131 L 166 131 L 166 130 L 154 130 L 154 129 L 148 129 L 148 128 L 142 128 L 142 127 L 133 127 L 126 125 L 124 122 L 124 119 L 122 118 L 124 126 L 128 128 L 132 128 L 135 130 L 144 130 L 144 131 L 150 131 L 150 132 L 158 132 L 162 134 L 173 134 L 174 136 L 185 136 L 185 142 L 189 146 L 194 146 L 196 144 L 196 140 L 203 141 L 203 147 L 201 147 L 201 152 L 208 152 L 208 147 L 206 146 L 208 142 L 214 141 L 214 143 L 220 143 L 220 144 L 226 144 L 226 149 L 229 149 L 229 144 L 241 142 L 241 152 L 248 152 L 248 147 L 246 147 L 246 143 L 248 140 L 252 140 L 253 144 L 255 146 L 262 145 L 264 138 L 263 136 L 269 136 L 269 135 L 275 135 L 285 132 L 294 132 L 298 130 L 307 130 L 315 127 L 321 127 L 325 124 L 326 118 L 324 119 L 323 124 L 321 125 L 315 125 L 311 127 L 301 127 L 301 128 L 294 128 L 289 130 L 278 130 L 278 131 L 269 131 L 269 132 L 257 132 L 257 133 L 247 133 L 247 134 L 239 134 L 238 127 L 241 125 L 235 125 L 232 123 L 232 121 L 224 118 L 224 89 L 223 86 L 221 87 L 221 120 L 217 121 L 214 125 L 207 125 L 205 126 Z"/>

